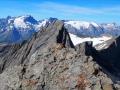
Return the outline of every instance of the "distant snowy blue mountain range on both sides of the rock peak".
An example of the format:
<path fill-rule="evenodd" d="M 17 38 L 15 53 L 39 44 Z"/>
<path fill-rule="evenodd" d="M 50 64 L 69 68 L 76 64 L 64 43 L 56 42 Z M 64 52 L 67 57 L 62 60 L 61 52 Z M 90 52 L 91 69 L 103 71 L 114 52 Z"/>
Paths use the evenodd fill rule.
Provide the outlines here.
<path fill-rule="evenodd" d="M 19 16 L 0 19 L 0 43 L 20 43 L 28 40 L 32 35 L 42 27 L 52 23 L 57 18 L 49 18 L 44 20 L 35 20 L 32 16 Z M 70 21 L 63 20 L 69 33 L 80 38 L 96 38 L 103 36 L 119 36 L 120 26 L 112 24 L 97 24 L 95 22 Z"/>

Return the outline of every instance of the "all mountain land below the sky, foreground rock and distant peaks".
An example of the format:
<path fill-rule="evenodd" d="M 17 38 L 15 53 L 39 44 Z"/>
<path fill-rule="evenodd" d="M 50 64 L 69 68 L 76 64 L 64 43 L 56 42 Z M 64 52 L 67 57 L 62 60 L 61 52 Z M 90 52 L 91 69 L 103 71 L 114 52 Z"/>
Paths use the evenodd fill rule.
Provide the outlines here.
<path fill-rule="evenodd" d="M 0 90 L 120 90 L 119 60 L 115 23 L 0 19 Z"/>

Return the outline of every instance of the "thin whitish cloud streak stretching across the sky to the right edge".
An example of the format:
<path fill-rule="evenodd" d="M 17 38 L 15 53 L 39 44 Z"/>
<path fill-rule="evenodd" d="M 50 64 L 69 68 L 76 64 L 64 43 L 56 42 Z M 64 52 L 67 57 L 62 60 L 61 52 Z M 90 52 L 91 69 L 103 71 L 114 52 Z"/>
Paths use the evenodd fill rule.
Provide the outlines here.
<path fill-rule="evenodd" d="M 85 15 L 93 15 L 93 14 L 119 14 L 120 15 L 120 7 L 110 7 L 110 8 L 88 8 L 88 7 L 80 7 L 74 5 L 66 5 L 54 2 L 43 2 L 38 5 L 41 10 L 51 11 L 52 13 L 63 13 L 63 14 L 85 14 Z"/>

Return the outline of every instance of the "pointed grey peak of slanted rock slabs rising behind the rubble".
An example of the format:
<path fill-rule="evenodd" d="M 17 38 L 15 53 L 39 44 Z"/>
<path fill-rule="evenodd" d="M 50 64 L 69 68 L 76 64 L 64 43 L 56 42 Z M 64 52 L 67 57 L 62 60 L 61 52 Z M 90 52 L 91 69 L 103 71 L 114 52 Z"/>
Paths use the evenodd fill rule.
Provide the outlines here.
<path fill-rule="evenodd" d="M 29 61 L 31 55 L 37 50 L 47 50 L 50 46 L 55 44 L 57 47 L 71 47 L 74 48 L 72 41 L 66 29 L 63 28 L 63 22 L 55 21 L 52 24 L 46 26 L 32 40 L 22 45 L 3 45 L 1 46 L 1 62 L 2 68 L 13 66 L 15 64 L 23 64 Z M 21 47 L 22 46 L 22 47 Z M 4 69 L 3 68 L 3 69 Z"/>

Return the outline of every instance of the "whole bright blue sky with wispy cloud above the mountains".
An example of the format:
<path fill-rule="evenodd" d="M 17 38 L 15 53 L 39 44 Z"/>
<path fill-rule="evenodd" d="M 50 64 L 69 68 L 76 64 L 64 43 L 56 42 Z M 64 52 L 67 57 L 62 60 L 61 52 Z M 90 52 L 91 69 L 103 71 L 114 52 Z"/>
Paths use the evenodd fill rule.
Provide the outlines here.
<path fill-rule="evenodd" d="M 32 15 L 120 24 L 120 0 L 0 0 L 0 18 Z"/>

